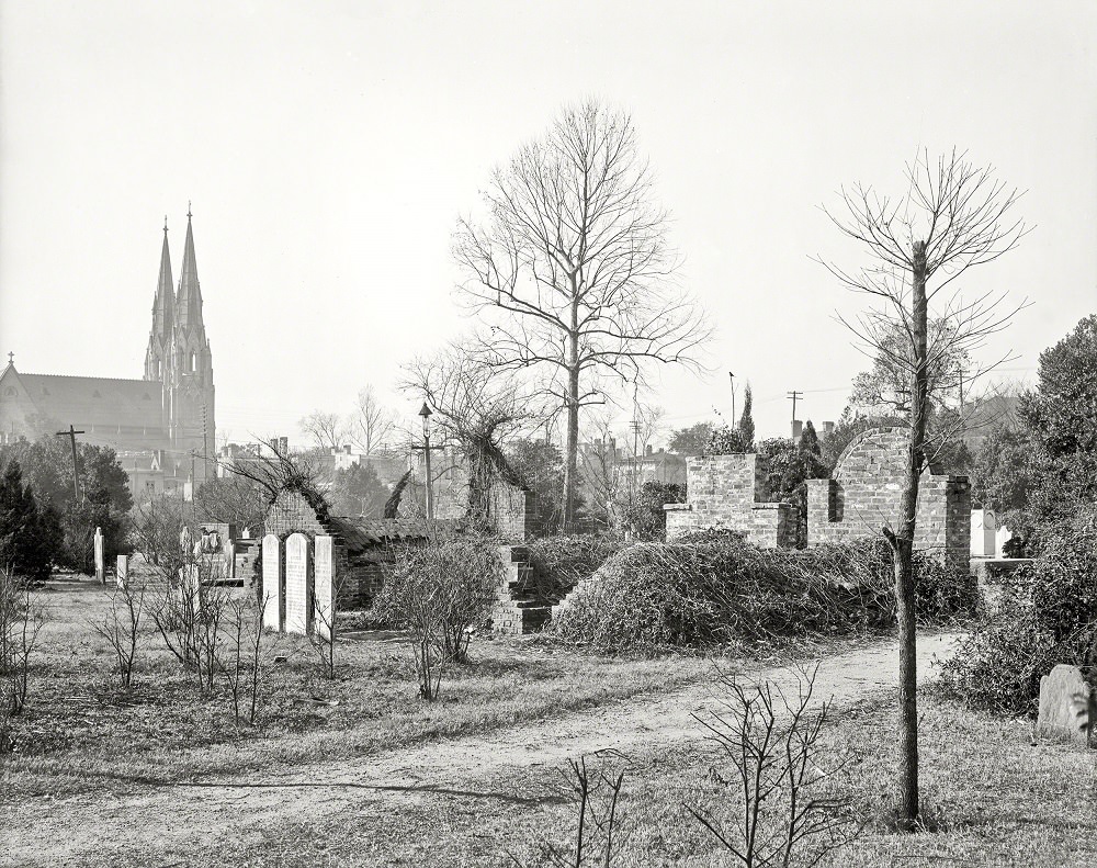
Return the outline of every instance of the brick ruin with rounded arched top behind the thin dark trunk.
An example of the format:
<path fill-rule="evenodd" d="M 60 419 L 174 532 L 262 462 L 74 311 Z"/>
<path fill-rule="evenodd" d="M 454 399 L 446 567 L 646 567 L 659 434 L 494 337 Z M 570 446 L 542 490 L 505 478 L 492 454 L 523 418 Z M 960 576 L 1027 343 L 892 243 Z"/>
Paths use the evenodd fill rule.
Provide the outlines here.
<path fill-rule="evenodd" d="M 807 482 L 807 544 L 840 542 L 896 527 L 909 435 L 874 428 L 856 437 L 835 465 L 834 477 Z M 921 475 L 915 548 L 965 564 L 971 534 L 966 476 Z"/>

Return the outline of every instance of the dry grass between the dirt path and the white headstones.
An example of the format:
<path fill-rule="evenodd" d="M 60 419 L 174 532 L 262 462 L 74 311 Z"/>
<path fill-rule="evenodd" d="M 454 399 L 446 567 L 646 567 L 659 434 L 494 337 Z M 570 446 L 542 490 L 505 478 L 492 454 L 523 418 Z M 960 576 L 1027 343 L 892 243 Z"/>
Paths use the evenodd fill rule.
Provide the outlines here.
<path fill-rule="evenodd" d="M 134 689 L 120 690 L 110 649 L 88 623 L 109 605 L 93 582 L 54 580 L 39 596 L 49 620 L 30 701 L 14 719 L 15 754 L 0 757 L 8 798 L 360 756 L 671 689 L 705 670 L 688 657 L 608 660 L 518 639 L 474 640 L 473 663 L 451 666 L 440 699 L 426 703 L 416 694 L 410 649 L 400 643 L 340 642 L 339 677 L 327 680 L 314 649 L 286 638 L 279 653 L 287 661 L 272 668 L 267 707 L 250 728 L 235 722 L 224 685 L 201 696 L 151 632 Z M 302 701 L 310 697 L 338 704 Z"/>

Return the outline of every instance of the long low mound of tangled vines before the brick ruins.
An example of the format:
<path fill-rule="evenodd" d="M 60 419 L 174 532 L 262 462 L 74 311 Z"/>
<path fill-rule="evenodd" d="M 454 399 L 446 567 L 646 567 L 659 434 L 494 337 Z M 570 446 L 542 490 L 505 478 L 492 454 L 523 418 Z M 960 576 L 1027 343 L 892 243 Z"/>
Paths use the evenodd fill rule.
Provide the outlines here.
<path fill-rule="evenodd" d="M 930 563 L 918 559 L 919 602 L 923 617 L 937 619 L 973 594 L 950 589 L 969 583 Z M 598 580 L 568 598 L 551 629 L 614 651 L 848 633 L 894 621 L 892 575 L 883 540 L 795 551 L 705 531 L 614 554 Z"/>

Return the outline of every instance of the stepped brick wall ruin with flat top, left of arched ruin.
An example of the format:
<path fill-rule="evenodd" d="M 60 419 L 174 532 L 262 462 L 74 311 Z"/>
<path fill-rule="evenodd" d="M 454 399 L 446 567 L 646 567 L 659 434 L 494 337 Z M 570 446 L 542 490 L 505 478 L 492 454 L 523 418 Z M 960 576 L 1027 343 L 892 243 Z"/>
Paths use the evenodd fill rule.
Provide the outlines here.
<path fill-rule="evenodd" d="M 691 530 L 740 531 L 756 545 L 796 544 L 796 509 L 767 501 L 766 459 L 755 453 L 686 459 L 686 503 L 668 504 L 667 539 Z"/>

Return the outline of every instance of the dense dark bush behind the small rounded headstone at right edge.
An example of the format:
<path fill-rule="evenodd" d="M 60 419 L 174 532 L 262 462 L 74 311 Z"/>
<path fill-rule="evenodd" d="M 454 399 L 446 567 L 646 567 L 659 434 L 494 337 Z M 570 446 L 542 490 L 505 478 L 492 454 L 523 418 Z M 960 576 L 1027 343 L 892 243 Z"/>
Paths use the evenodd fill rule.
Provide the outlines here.
<path fill-rule="evenodd" d="M 1063 522 L 1032 567 L 1010 577 L 941 664 L 941 686 L 974 708 L 1034 714 L 1040 677 L 1059 663 L 1097 679 L 1097 509 Z"/>

